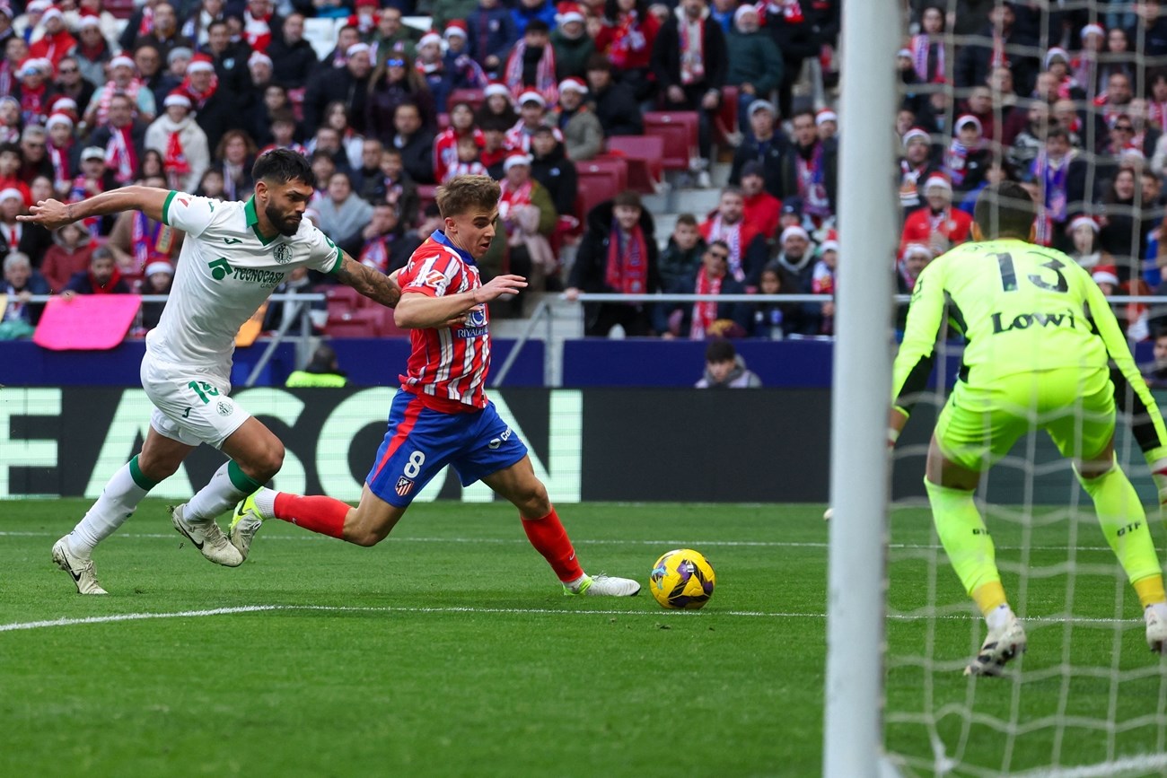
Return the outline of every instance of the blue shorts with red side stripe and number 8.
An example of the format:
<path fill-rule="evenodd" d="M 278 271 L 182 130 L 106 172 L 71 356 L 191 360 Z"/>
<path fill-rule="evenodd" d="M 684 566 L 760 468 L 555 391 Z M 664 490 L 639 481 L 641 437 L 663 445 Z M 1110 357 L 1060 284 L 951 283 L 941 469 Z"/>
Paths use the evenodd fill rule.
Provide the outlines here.
<path fill-rule="evenodd" d="M 389 430 L 365 483 L 390 505 L 406 507 L 447 464 L 463 486 L 523 460 L 526 446 L 494 402 L 474 413 L 442 413 L 401 390 L 389 409 Z"/>

